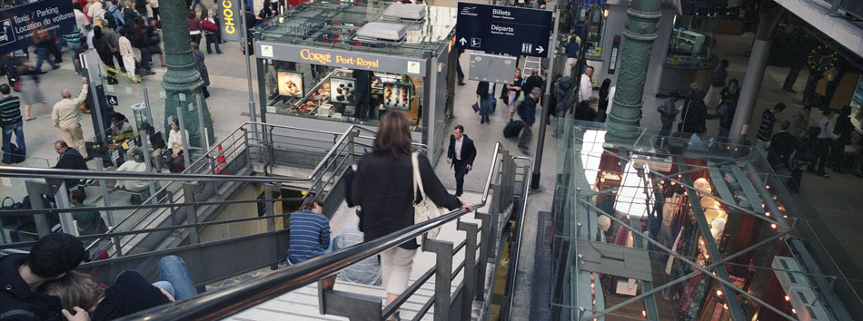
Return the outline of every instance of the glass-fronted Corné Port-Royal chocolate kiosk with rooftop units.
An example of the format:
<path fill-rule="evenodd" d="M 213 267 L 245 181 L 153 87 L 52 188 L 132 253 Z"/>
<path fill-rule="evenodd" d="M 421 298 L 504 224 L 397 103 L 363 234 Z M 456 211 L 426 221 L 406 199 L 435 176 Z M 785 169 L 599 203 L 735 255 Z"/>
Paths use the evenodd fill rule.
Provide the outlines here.
<path fill-rule="evenodd" d="M 322 131 L 375 128 L 402 112 L 440 153 L 454 94 L 456 9 L 304 3 L 256 29 L 264 122 Z"/>

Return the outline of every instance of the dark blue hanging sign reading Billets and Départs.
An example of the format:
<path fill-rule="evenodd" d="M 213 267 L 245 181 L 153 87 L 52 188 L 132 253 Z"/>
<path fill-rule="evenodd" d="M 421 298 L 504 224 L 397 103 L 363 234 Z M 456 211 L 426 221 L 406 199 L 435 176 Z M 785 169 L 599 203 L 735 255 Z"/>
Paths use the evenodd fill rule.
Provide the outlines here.
<path fill-rule="evenodd" d="M 551 11 L 459 3 L 455 43 L 489 53 L 547 57 Z"/>

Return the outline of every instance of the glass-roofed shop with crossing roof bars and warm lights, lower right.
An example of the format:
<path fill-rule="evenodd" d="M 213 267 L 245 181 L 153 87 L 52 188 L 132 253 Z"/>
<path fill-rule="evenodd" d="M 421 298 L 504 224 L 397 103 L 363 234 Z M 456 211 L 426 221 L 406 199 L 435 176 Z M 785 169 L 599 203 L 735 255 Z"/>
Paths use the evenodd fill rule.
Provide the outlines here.
<path fill-rule="evenodd" d="M 570 130 L 558 149 L 552 319 L 815 320 L 860 306 L 845 296 L 848 280 L 823 286 L 838 267 L 820 227 L 759 153 L 650 131 L 606 141 L 589 123 Z"/>

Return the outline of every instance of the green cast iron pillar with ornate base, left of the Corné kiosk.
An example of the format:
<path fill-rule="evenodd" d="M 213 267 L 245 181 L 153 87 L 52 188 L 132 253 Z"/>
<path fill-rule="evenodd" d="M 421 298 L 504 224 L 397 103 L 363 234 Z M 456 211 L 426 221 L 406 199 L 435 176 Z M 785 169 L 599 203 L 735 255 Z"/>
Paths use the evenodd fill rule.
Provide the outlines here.
<path fill-rule="evenodd" d="M 164 73 L 162 87 L 164 99 L 164 129 L 171 128 L 169 119 L 177 118 L 177 107 L 182 107 L 184 127 L 189 131 L 189 143 L 194 147 L 203 148 L 202 135 L 213 143 L 213 121 L 206 101 L 198 99 L 203 95 L 203 79 L 194 70 L 192 58 L 192 38 L 189 36 L 189 24 L 186 18 L 189 7 L 184 0 L 162 0 L 162 37 L 164 39 L 164 63 L 168 70 Z M 200 102 L 200 103 L 199 103 Z M 198 111 L 203 114 L 199 123 Z M 205 131 L 202 131 L 201 127 Z"/>

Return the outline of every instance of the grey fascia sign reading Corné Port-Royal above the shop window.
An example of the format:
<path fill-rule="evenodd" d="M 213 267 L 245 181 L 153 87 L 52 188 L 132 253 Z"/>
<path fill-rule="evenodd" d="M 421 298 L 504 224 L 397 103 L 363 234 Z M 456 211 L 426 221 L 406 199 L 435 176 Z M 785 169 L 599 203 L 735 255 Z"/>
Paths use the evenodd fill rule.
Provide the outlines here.
<path fill-rule="evenodd" d="M 284 62 L 322 64 L 372 72 L 425 75 L 425 60 L 305 45 L 255 42 L 258 58 Z"/>

